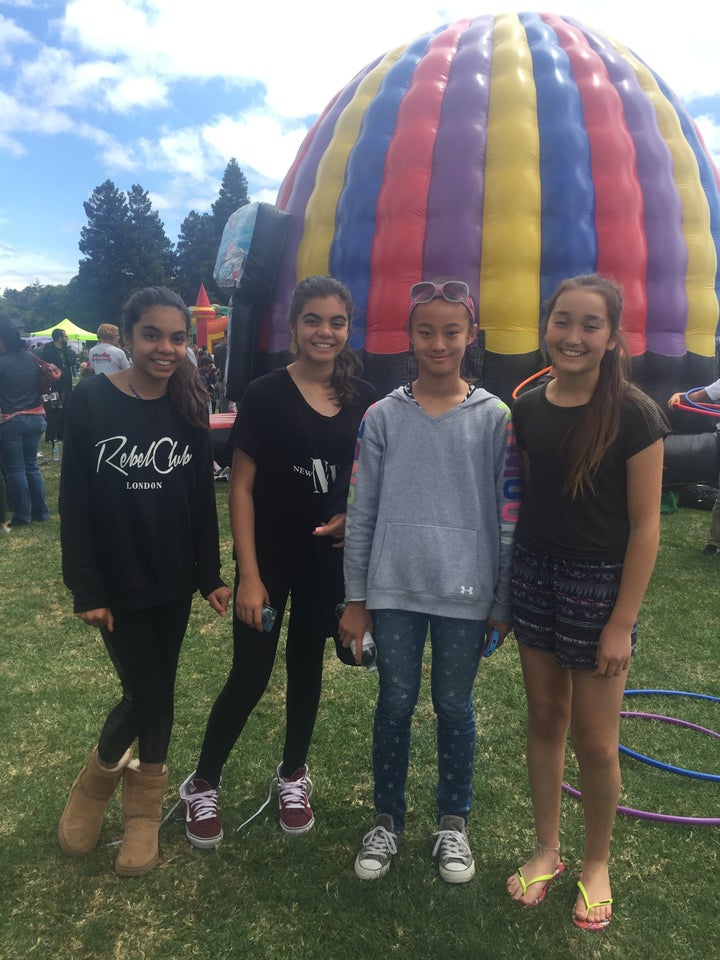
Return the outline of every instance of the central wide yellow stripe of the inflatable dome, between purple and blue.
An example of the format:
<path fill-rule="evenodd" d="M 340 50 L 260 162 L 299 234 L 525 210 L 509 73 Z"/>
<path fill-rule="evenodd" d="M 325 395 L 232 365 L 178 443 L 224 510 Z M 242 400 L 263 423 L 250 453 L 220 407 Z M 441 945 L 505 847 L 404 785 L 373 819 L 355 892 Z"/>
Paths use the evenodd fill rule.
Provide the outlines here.
<path fill-rule="evenodd" d="M 540 137 L 532 57 L 516 14 L 495 17 L 491 76 L 480 326 L 493 353 L 529 353 L 538 348 Z"/>

